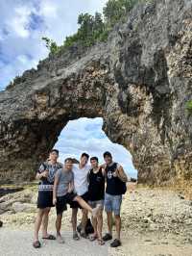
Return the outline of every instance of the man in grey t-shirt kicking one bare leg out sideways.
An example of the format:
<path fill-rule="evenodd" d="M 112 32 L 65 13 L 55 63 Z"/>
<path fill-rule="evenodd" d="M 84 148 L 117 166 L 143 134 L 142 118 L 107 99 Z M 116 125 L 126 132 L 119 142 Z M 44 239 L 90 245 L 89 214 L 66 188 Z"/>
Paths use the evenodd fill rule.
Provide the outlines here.
<path fill-rule="evenodd" d="M 66 211 L 66 204 L 71 204 L 73 201 L 77 201 L 82 208 L 90 212 L 93 218 L 96 217 L 99 212 L 99 208 L 92 209 L 84 199 L 74 191 L 74 174 L 72 171 L 73 160 L 67 158 L 64 161 L 64 166 L 60 168 L 55 174 L 54 191 L 53 191 L 53 204 L 56 205 L 57 219 L 56 230 L 57 240 L 59 243 L 63 243 L 63 239 L 60 235 L 60 226 L 63 211 Z M 73 234 L 73 239 L 77 240 L 76 234 Z"/>

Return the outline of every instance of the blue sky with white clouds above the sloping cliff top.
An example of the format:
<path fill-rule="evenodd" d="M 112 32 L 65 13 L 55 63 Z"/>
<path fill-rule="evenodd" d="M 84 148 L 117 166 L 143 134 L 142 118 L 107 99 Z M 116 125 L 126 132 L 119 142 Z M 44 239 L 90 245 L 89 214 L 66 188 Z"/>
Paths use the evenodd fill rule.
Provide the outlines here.
<path fill-rule="evenodd" d="M 0 70 L 0 90 L 4 89 L 14 76 L 22 74 L 28 68 L 36 67 L 36 63 L 47 56 L 48 51 L 41 40 L 42 37 L 52 38 L 61 44 L 66 36 L 77 31 L 77 18 L 80 13 L 102 12 L 106 1 L 2 0 L 0 62 L 4 65 L 1 65 Z M 32 15 L 35 15 L 34 20 Z M 24 55 L 31 56 L 32 59 L 26 66 L 22 62 L 18 64 L 19 56 Z"/>

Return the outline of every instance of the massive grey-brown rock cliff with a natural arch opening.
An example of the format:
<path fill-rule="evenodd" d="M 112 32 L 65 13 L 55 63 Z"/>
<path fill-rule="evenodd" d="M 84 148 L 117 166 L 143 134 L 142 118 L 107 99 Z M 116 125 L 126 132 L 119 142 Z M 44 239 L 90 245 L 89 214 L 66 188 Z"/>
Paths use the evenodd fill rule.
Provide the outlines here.
<path fill-rule="evenodd" d="M 139 5 L 107 43 L 40 62 L 0 92 L 1 182 L 34 178 L 67 121 L 82 116 L 104 118 L 139 182 L 191 181 L 191 64 L 191 0 Z"/>

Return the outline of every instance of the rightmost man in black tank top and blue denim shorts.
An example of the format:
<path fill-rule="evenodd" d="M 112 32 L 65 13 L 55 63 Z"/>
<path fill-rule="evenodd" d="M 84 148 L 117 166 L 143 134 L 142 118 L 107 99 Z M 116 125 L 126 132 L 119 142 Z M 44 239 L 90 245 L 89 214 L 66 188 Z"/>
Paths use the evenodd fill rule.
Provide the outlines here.
<path fill-rule="evenodd" d="M 105 194 L 105 210 L 108 216 L 108 233 L 103 237 L 104 241 L 112 239 L 112 212 L 114 213 L 116 235 L 117 238 L 110 243 L 111 247 L 117 247 L 121 245 L 120 231 L 121 231 L 121 217 L 120 209 L 122 202 L 122 194 L 126 192 L 126 182 L 128 177 L 122 166 L 112 161 L 112 155 L 110 152 L 104 153 L 104 165 L 107 188 Z"/>

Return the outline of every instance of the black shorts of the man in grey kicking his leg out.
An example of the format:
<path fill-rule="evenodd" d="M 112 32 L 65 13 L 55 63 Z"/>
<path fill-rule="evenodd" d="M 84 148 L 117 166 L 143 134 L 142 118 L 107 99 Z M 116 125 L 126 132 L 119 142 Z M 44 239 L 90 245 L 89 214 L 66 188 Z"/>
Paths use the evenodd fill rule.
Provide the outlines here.
<path fill-rule="evenodd" d="M 67 204 L 72 204 L 74 201 L 74 198 L 77 196 L 77 193 L 74 192 L 67 192 L 63 196 L 58 196 L 57 197 L 57 203 L 56 203 L 56 212 L 57 215 L 62 214 L 63 211 L 67 210 L 66 205 Z"/>

